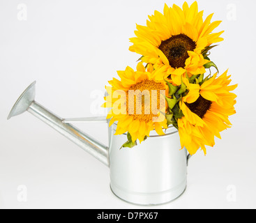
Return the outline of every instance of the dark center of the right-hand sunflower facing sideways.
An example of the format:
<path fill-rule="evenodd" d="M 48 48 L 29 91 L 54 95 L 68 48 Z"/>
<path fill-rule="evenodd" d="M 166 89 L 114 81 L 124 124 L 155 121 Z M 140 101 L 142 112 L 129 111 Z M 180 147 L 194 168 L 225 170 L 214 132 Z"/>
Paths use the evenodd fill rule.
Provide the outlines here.
<path fill-rule="evenodd" d="M 199 98 L 191 103 L 186 103 L 187 107 L 190 109 L 191 112 L 197 114 L 200 118 L 204 118 L 204 115 L 206 112 L 211 108 L 211 101 L 206 100 L 201 95 L 199 95 Z"/>

